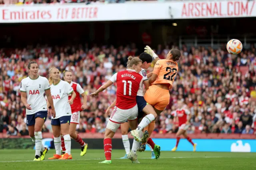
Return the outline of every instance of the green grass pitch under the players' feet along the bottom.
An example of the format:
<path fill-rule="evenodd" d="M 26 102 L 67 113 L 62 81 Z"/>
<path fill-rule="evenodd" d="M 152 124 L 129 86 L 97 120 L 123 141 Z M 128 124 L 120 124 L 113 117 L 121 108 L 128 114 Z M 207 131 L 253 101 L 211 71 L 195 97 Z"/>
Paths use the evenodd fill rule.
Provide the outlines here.
<path fill-rule="evenodd" d="M 98 164 L 105 160 L 104 150 L 88 149 L 85 156 L 80 150 L 72 150 L 72 160 L 48 160 L 55 153 L 49 150 L 46 160 L 34 159 L 34 150 L 0 150 L 0 170 L 253 170 L 256 153 L 234 152 L 161 152 L 158 160 L 152 160 L 151 152 L 138 153 L 140 164 L 120 160 L 124 150 L 112 151 L 112 164 Z"/>

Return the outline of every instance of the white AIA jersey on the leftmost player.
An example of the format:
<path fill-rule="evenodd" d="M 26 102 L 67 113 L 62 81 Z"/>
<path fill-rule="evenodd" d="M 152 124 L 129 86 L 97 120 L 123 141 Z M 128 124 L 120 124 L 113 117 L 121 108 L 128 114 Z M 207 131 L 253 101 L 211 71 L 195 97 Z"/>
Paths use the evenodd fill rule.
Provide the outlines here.
<path fill-rule="evenodd" d="M 31 110 L 26 109 L 26 115 L 33 115 L 39 111 L 47 111 L 47 103 L 44 99 L 44 91 L 50 89 L 50 84 L 45 77 L 39 76 L 36 79 L 26 77 L 20 84 L 20 92 L 27 94 L 27 103 Z"/>

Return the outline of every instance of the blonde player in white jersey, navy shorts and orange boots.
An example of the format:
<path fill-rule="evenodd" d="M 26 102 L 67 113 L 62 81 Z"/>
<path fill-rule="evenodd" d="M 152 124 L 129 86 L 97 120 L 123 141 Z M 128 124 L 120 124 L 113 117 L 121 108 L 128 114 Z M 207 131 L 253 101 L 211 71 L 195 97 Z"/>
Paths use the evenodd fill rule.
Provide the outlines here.
<path fill-rule="evenodd" d="M 70 105 L 76 97 L 76 93 L 66 81 L 60 79 L 60 71 L 53 67 L 50 69 L 49 83 L 51 87 L 52 99 L 56 109 L 56 117 L 52 118 L 52 132 L 54 136 L 54 146 L 56 154 L 48 159 L 72 159 L 71 155 L 71 138 L 69 131 L 70 118 L 72 115 Z M 68 99 L 68 95 L 72 95 L 71 99 Z M 49 105 L 48 105 L 49 106 Z M 60 132 L 63 134 L 66 153 L 61 156 L 61 139 Z"/>

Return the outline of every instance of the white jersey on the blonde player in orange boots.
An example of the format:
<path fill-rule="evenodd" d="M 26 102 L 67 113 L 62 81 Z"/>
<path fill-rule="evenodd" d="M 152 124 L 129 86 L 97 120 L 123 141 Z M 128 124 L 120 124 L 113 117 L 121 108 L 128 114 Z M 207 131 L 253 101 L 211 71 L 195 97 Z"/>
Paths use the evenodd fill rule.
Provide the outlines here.
<path fill-rule="evenodd" d="M 56 117 L 52 117 L 52 119 L 58 119 L 62 116 L 71 116 L 71 107 L 68 103 L 68 95 L 74 91 L 71 85 L 66 81 L 60 80 L 58 84 L 52 84 L 50 87 L 52 100 L 56 111 Z"/>

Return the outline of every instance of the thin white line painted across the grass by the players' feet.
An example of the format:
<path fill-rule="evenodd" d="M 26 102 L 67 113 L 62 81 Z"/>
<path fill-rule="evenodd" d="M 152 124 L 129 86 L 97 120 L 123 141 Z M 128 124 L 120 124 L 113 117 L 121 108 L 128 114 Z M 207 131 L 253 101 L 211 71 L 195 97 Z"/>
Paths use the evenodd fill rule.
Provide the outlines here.
<path fill-rule="evenodd" d="M 227 158 L 223 156 L 204 156 L 204 157 L 169 157 L 169 158 L 160 158 L 160 159 L 179 159 L 179 158 Z M 151 159 L 151 158 L 139 158 L 139 159 Z M 105 159 L 71 159 L 68 161 L 81 161 L 81 160 L 105 160 Z M 113 159 L 112 159 L 113 160 Z M 125 159 L 120 159 L 120 158 L 114 158 L 114 160 L 125 160 Z M 43 162 L 47 161 L 61 161 L 61 160 L 43 160 Z M 8 162 L 37 162 L 34 160 L 12 160 L 12 161 L 0 161 L 0 163 L 8 163 Z"/>

